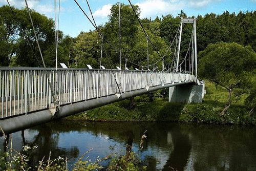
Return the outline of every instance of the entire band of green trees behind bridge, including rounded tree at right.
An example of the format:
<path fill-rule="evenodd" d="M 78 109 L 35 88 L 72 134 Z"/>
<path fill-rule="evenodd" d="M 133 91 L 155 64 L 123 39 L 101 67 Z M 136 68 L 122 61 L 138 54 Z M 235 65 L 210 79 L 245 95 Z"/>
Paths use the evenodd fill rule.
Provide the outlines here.
<path fill-rule="evenodd" d="M 97 21 L 91 22 L 95 30 L 81 31 L 77 37 L 59 31 L 58 63 L 65 63 L 69 68 L 87 68 L 89 64 L 94 69 L 101 65 L 116 69 L 120 65 L 118 7 L 118 4 L 112 6 L 104 25 L 96 26 Z M 174 71 L 177 51 L 170 45 L 177 46 L 181 18 L 196 18 L 199 78 L 210 80 L 229 92 L 222 114 L 229 108 L 231 96 L 240 98 L 244 94 L 250 114 L 253 113 L 256 103 L 256 11 L 237 14 L 225 11 L 221 15 L 205 16 L 187 16 L 181 11 L 177 16 L 140 18 L 139 22 L 138 6 L 121 4 L 120 9 L 122 69 L 143 70 L 147 67 L 148 56 L 150 70 Z M 54 20 L 34 10 L 30 13 L 45 65 L 55 67 Z M 0 22 L 0 66 L 43 67 L 28 9 L 2 6 Z M 186 59 L 190 50 L 192 30 L 192 25 L 183 25 L 179 61 Z M 187 59 L 184 63 L 180 70 L 186 70 Z M 58 64 L 58 67 L 61 66 Z"/>

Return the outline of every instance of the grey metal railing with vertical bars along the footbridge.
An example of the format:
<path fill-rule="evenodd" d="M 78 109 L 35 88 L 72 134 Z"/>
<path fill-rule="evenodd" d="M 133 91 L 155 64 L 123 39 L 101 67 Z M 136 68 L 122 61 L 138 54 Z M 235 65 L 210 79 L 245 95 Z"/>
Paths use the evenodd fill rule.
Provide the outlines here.
<path fill-rule="evenodd" d="M 0 76 L 0 118 L 47 109 L 54 102 L 53 97 L 60 105 L 64 105 L 136 91 L 146 86 L 196 81 L 195 76 L 189 74 L 133 70 L 58 69 L 56 71 L 50 68 L 45 70 L 0 67 Z"/>

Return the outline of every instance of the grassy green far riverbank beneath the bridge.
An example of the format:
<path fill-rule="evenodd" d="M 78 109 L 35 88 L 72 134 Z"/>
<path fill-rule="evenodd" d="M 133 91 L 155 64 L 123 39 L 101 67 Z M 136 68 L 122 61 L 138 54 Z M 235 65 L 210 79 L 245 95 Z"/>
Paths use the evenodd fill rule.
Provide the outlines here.
<path fill-rule="evenodd" d="M 169 103 L 166 97 L 161 97 L 160 92 L 154 93 L 154 96 L 154 101 L 150 101 L 148 95 L 136 97 L 136 105 L 133 109 L 130 109 L 130 100 L 123 100 L 65 119 L 256 125 L 256 117 L 255 115 L 249 116 L 248 108 L 243 104 L 243 97 L 233 102 L 224 116 L 220 116 L 220 112 L 225 106 L 227 92 L 221 87 L 215 87 L 215 85 L 210 82 L 206 82 L 206 95 L 202 103 Z"/>

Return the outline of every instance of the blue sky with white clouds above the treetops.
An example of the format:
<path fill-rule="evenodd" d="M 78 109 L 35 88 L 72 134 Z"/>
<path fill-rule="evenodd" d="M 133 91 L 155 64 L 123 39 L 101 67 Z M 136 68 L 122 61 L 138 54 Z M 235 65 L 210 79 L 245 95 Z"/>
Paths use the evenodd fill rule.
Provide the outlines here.
<path fill-rule="evenodd" d="M 22 9 L 23 0 L 8 0 L 11 6 Z M 58 0 L 57 7 L 58 7 Z M 118 0 L 88 0 L 97 25 L 108 22 L 110 8 Z M 29 8 L 47 17 L 54 18 L 54 0 L 27 0 Z M 77 0 L 83 10 L 90 14 L 86 0 Z M 121 3 L 129 4 L 127 0 Z M 256 10 L 256 0 L 131 0 L 132 4 L 139 5 L 141 18 L 154 19 L 156 16 L 172 14 L 176 16 L 183 10 L 188 16 L 205 15 L 207 13 L 222 14 L 224 11 L 238 13 L 240 11 Z M 7 0 L 0 0 L 0 6 L 8 5 Z M 60 0 L 59 30 L 65 35 L 76 37 L 81 31 L 94 30 L 88 19 L 73 0 Z M 89 15 L 90 16 L 90 15 Z"/>

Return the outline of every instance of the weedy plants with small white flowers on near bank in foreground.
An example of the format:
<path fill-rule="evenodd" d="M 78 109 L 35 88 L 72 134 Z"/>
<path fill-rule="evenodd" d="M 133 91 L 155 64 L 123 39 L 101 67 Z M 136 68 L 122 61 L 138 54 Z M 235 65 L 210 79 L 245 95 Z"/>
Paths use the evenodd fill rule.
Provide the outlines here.
<path fill-rule="evenodd" d="M 146 131 L 145 131 L 146 132 Z M 141 142 L 140 142 L 140 150 L 143 147 L 143 139 L 146 138 L 145 132 L 142 135 Z M 4 138 L 7 143 L 6 136 L 4 134 Z M 58 157 L 56 159 L 51 160 L 51 152 L 49 154 L 48 160 L 46 160 L 45 157 L 39 161 L 38 165 L 31 165 L 31 154 L 34 153 L 35 148 L 37 148 L 36 145 L 33 147 L 30 147 L 28 145 L 23 146 L 23 150 L 21 152 L 17 152 L 12 147 L 12 137 L 10 136 L 11 144 L 10 147 L 6 145 L 7 152 L 1 154 L 0 158 L 0 168 L 1 170 L 38 170 L 38 171 L 67 171 L 67 159 L 65 160 L 62 157 Z M 129 151 L 127 151 L 129 149 Z M 131 147 L 126 147 L 126 154 L 114 154 L 111 153 L 110 155 L 99 158 L 99 156 L 96 158 L 95 161 L 91 161 L 91 159 L 88 159 L 89 152 L 92 149 L 89 149 L 86 153 L 81 155 L 78 159 L 78 161 L 74 164 L 74 167 L 72 170 L 101 170 L 104 167 L 100 165 L 101 161 L 109 161 L 108 166 L 105 167 L 106 170 L 146 170 L 146 166 L 143 166 L 140 162 L 139 156 L 131 151 Z M 114 148 L 112 147 L 112 150 L 114 151 Z"/>

